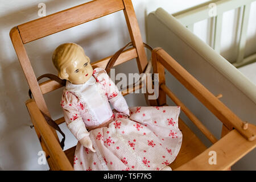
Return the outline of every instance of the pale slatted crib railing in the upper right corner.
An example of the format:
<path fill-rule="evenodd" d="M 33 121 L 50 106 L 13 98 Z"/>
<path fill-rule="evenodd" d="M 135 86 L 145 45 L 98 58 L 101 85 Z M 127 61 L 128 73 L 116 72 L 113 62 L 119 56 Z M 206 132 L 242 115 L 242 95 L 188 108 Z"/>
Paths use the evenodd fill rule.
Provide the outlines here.
<path fill-rule="evenodd" d="M 188 10 L 181 11 L 179 13 L 172 14 L 176 19 L 178 19 L 184 26 L 186 26 L 189 30 L 193 32 L 193 26 L 196 22 L 199 22 L 204 19 L 212 18 L 214 25 L 213 25 L 213 41 L 212 41 L 212 48 L 220 53 L 220 43 L 221 43 L 221 30 L 222 30 L 222 15 L 229 10 L 241 9 L 241 26 L 239 27 L 240 32 L 238 35 L 238 56 L 237 60 L 233 65 L 235 67 L 242 67 L 243 65 L 253 63 L 256 61 L 256 53 L 253 55 L 245 57 L 245 45 L 246 45 L 246 32 L 249 22 L 249 14 L 250 14 L 250 7 L 251 2 L 255 0 L 218 0 L 212 1 L 210 3 L 214 3 L 216 8 L 216 14 L 213 17 L 210 17 L 209 8 L 211 6 L 209 2 L 204 3 L 203 5 L 199 5 L 193 7 Z"/>

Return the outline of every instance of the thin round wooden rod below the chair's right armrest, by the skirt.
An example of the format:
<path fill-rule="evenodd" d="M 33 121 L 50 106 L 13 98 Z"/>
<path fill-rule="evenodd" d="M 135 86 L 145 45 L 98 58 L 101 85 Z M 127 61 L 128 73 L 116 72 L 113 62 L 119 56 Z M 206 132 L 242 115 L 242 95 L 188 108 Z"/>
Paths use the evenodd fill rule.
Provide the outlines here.
<path fill-rule="evenodd" d="M 212 133 L 201 123 L 201 121 L 188 109 L 187 106 L 181 102 L 174 93 L 171 92 L 170 89 L 167 88 L 166 85 L 160 85 L 160 88 L 167 93 L 167 95 L 171 98 L 172 101 L 178 106 L 180 106 L 181 110 L 187 115 L 187 117 L 196 125 L 196 127 L 207 137 L 210 142 L 216 143 L 218 140 L 214 137 Z"/>

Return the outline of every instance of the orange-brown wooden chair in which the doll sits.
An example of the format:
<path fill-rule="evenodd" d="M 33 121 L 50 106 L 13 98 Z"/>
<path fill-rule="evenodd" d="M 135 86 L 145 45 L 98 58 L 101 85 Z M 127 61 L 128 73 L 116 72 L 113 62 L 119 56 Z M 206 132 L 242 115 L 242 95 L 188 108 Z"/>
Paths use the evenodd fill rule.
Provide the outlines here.
<path fill-rule="evenodd" d="M 10 37 L 14 49 L 27 78 L 34 99 L 26 101 L 31 121 L 35 126 L 42 149 L 46 152 L 47 162 L 51 170 L 73 170 L 73 156 L 75 147 L 63 151 L 56 131 L 45 121 L 42 113 L 49 115 L 43 94 L 61 88 L 55 81 L 48 80 L 41 84 L 36 81 L 35 73 L 31 67 L 24 44 L 43 38 L 67 28 L 77 26 L 123 10 L 126 23 L 130 32 L 130 38 L 134 47 L 127 49 L 119 56 L 115 65 L 119 65 L 136 58 L 139 72 L 142 73 L 147 65 L 147 57 L 143 47 L 141 33 L 135 16 L 131 0 L 96 0 L 72 7 L 55 14 L 45 16 L 20 24 L 11 29 Z M 125 43 L 124 43 L 125 44 Z M 93 63 L 93 67 L 105 68 L 111 56 Z M 175 170 L 225 170 L 229 169 L 237 160 L 241 159 L 256 146 L 256 126 L 241 121 L 232 113 L 217 97 L 213 96 L 203 85 L 191 76 L 163 49 L 155 48 L 152 51 L 152 64 L 154 73 L 159 73 L 159 98 L 150 100 L 150 105 L 166 105 L 166 96 L 170 97 L 193 123 L 213 143 L 209 148 L 196 137 L 195 134 L 179 119 L 179 127 L 183 133 L 183 143 L 176 160 L 170 164 Z M 203 123 L 189 111 L 189 109 L 167 88 L 165 84 L 165 69 L 174 75 L 196 98 L 201 101 L 223 123 L 222 138 L 217 140 Z M 139 89 L 139 88 L 133 88 Z M 128 94 L 126 90 L 123 94 Z M 56 100 L 56 102 L 59 102 Z M 63 123 L 64 118 L 57 119 L 57 124 Z M 209 152 L 217 153 L 217 164 L 209 164 Z"/>

